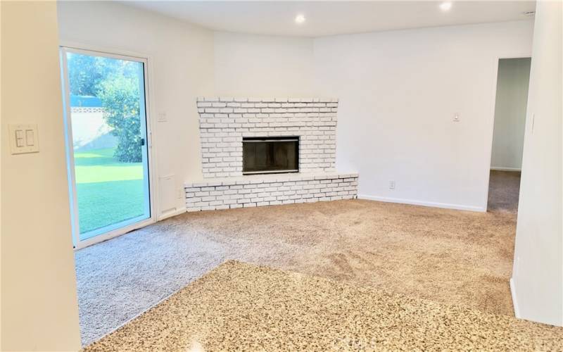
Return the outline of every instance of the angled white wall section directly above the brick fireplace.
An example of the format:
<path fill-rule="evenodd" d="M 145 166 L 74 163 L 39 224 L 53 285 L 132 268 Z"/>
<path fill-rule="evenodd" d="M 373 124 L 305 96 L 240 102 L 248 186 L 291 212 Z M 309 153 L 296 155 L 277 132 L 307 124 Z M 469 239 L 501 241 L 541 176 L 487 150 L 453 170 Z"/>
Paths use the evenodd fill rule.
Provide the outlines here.
<path fill-rule="evenodd" d="M 217 95 L 313 96 L 312 59 L 312 39 L 215 32 Z"/>

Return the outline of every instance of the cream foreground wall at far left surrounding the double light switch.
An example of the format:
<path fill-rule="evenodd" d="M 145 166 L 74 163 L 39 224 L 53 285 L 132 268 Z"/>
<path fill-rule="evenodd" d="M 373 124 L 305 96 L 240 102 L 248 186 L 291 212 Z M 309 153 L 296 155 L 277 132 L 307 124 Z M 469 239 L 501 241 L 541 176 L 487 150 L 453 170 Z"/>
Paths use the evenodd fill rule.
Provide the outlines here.
<path fill-rule="evenodd" d="M 0 8 L 0 350 L 78 351 L 56 4 Z M 37 124 L 39 153 L 11 155 L 12 123 Z"/>

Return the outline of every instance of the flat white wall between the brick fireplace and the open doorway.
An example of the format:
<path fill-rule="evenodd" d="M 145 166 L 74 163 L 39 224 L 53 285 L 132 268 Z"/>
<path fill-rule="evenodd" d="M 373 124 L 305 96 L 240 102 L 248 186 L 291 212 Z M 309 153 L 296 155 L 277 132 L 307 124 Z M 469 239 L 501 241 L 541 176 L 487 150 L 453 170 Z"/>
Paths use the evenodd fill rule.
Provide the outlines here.
<path fill-rule="evenodd" d="M 336 167 L 360 173 L 358 195 L 484 211 L 497 61 L 530 56 L 532 31 L 526 20 L 315 39 L 315 92 L 340 99 Z"/>

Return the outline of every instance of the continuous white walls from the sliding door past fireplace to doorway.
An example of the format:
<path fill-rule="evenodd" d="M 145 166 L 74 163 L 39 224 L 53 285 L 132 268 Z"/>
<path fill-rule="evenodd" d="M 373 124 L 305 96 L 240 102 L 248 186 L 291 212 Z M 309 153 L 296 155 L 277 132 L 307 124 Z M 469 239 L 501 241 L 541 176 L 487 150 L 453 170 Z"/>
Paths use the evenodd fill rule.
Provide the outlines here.
<path fill-rule="evenodd" d="M 337 167 L 360 172 L 360 195 L 469 210 L 486 209 L 497 60 L 530 56 L 533 27 L 310 39 L 213 34 L 107 2 L 61 2 L 58 14 L 63 40 L 151 54 L 151 110 L 169 120 L 154 123 L 158 175 L 177 188 L 201 177 L 195 96 L 334 96 Z"/>

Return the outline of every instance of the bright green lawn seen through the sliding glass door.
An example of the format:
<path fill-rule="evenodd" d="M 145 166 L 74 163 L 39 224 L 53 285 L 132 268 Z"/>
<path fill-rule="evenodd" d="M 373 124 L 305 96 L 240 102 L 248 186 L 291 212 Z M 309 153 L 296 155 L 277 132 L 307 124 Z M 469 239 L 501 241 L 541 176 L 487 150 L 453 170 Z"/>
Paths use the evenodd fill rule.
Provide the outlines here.
<path fill-rule="evenodd" d="M 81 239 L 91 230 L 144 214 L 142 163 L 120 163 L 113 149 L 75 152 L 75 175 Z"/>

